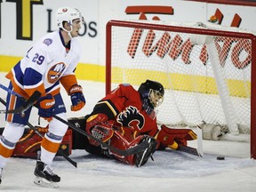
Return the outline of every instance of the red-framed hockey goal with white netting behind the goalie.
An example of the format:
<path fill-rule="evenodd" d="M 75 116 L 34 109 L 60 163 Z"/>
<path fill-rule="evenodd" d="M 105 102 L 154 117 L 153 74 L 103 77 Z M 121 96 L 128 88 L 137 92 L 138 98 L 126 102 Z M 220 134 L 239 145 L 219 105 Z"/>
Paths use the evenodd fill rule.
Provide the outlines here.
<path fill-rule="evenodd" d="M 226 135 L 247 134 L 256 158 L 254 35 L 212 23 L 110 20 L 106 93 L 116 84 L 158 81 L 165 89 L 159 124 L 218 125 Z"/>

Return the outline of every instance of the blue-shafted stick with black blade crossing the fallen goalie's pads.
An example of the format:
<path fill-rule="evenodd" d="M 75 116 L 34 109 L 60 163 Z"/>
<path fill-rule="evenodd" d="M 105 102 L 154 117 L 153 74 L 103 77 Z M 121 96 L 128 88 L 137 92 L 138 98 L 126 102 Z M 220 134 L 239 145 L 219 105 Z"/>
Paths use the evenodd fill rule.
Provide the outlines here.
<path fill-rule="evenodd" d="M 19 98 L 22 98 L 22 96 L 20 94 L 18 94 L 17 92 L 13 92 L 9 88 L 5 87 L 3 84 L 0 84 L 0 88 L 4 89 L 4 91 L 9 92 L 9 93 L 11 93 L 11 94 L 13 94 L 13 95 L 15 95 L 15 96 L 17 96 Z M 108 148 L 110 150 L 113 150 L 113 151 L 115 151 L 117 154 L 119 154 L 121 156 L 131 156 L 131 155 L 137 154 L 137 153 L 145 150 L 149 146 L 148 141 L 147 140 L 143 140 L 140 144 L 138 144 L 137 146 L 134 146 L 132 148 L 128 148 L 128 149 L 114 148 L 114 147 L 108 145 L 108 143 L 105 143 L 102 140 L 98 140 L 97 138 L 93 137 L 92 135 L 88 134 L 87 132 L 79 129 L 78 127 L 76 127 L 76 125 L 70 124 L 68 121 L 60 118 L 59 116 L 54 115 L 53 117 L 55 119 L 59 120 L 60 122 L 62 122 L 63 124 L 67 124 L 71 129 L 75 130 L 76 132 L 79 132 L 79 133 L 83 134 L 84 136 L 87 136 L 90 139 L 99 142 L 102 147 Z"/>

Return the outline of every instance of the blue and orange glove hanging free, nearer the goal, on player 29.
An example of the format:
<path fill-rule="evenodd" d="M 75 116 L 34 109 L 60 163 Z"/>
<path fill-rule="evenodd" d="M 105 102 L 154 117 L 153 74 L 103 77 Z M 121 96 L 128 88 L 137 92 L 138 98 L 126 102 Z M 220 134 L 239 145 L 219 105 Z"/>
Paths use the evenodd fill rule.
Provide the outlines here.
<path fill-rule="evenodd" d="M 72 102 L 71 111 L 78 111 L 84 108 L 85 98 L 83 88 L 80 85 L 74 84 L 69 90 L 69 95 Z"/>

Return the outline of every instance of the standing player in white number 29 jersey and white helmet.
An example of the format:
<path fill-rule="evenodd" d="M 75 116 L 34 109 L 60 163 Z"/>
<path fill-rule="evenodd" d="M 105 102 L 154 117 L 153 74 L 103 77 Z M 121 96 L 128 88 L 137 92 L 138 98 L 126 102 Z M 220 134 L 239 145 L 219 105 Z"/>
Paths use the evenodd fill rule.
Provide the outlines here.
<path fill-rule="evenodd" d="M 75 8 L 61 7 L 56 14 L 59 31 L 39 39 L 12 70 L 6 75 L 10 79 L 9 88 L 28 99 L 33 92 L 41 92 L 36 100 L 38 115 L 49 122 L 49 130 L 44 134 L 41 152 L 36 161 L 34 182 L 38 185 L 52 185 L 60 177 L 52 172 L 51 164 L 60 142 L 68 129 L 53 115 L 67 120 L 66 107 L 60 95 L 60 84 L 70 95 L 71 110 L 80 110 L 85 105 L 82 87 L 77 84 L 75 70 L 80 57 L 80 47 L 76 40 L 78 31 L 84 23 L 82 14 Z M 24 100 L 7 94 L 6 109 L 19 108 Z M 22 115 L 6 114 L 6 126 L 0 139 L 0 183 L 3 168 L 15 145 L 24 132 L 31 108 Z M 49 181 L 46 183 L 44 180 Z"/>

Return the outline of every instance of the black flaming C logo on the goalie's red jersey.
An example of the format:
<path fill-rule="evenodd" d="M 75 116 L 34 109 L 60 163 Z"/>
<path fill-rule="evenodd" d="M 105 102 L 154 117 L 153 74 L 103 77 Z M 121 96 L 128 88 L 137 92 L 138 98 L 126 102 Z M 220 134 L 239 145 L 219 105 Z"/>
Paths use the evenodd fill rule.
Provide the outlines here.
<path fill-rule="evenodd" d="M 141 130 L 145 124 L 144 116 L 140 114 L 138 108 L 129 106 L 125 108 L 116 118 L 116 121 L 125 127 Z"/>

